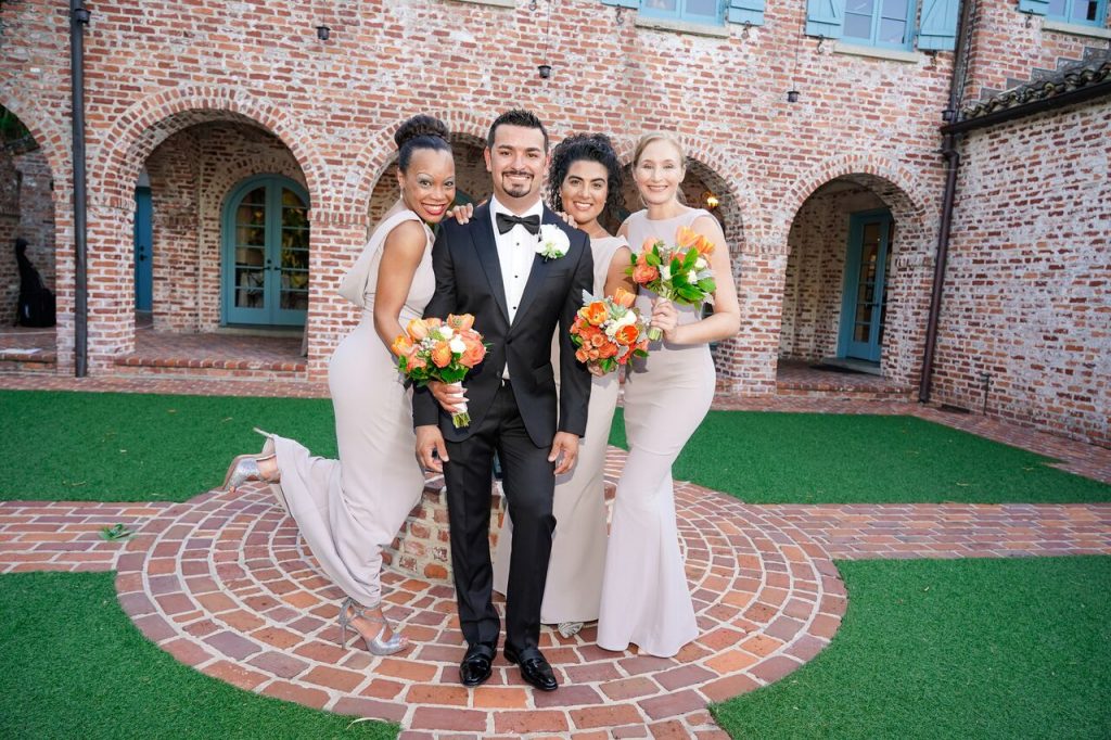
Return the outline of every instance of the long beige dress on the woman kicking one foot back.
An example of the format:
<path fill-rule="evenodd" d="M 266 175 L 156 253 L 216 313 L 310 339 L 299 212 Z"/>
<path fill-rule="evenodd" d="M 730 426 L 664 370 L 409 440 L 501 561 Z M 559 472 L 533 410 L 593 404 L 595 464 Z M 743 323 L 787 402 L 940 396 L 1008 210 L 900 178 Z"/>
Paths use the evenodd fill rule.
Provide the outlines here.
<path fill-rule="evenodd" d="M 361 283 L 356 288 L 362 300 L 356 302 L 363 307 L 362 319 L 328 366 L 339 460 L 312 457 L 294 440 L 273 438 L 281 490 L 301 536 L 324 572 L 366 607 L 381 600 L 382 548 L 393 541 L 424 489 L 410 392 L 374 331 L 382 244 L 398 224 L 411 220 L 420 217 L 404 210 L 382 221 L 352 270 Z M 424 229 L 428 247 L 401 309 L 402 326 L 423 314 L 436 290 L 432 232 Z M 344 296 L 350 287 L 351 280 L 344 281 Z"/>

